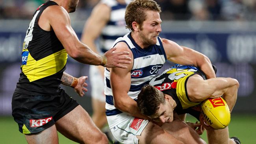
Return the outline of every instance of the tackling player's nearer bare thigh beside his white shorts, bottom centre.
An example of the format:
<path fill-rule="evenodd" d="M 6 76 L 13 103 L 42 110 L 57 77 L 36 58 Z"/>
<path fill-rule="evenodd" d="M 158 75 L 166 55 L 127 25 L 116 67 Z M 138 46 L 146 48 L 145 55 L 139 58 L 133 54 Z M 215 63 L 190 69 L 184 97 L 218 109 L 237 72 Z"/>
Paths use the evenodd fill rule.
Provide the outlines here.
<path fill-rule="evenodd" d="M 152 122 L 148 122 L 137 138 L 139 138 L 139 144 L 184 144 Z"/>

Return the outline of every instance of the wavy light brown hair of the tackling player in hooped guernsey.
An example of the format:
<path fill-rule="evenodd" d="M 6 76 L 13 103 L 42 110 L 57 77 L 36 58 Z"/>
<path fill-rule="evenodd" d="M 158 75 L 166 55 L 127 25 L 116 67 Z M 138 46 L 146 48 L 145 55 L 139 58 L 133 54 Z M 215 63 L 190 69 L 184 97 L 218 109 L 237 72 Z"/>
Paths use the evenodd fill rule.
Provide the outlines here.
<path fill-rule="evenodd" d="M 146 20 L 147 10 L 161 13 L 160 6 L 154 0 L 134 0 L 128 4 L 124 16 L 126 28 L 133 31 L 132 22 L 137 22 L 141 26 Z"/>

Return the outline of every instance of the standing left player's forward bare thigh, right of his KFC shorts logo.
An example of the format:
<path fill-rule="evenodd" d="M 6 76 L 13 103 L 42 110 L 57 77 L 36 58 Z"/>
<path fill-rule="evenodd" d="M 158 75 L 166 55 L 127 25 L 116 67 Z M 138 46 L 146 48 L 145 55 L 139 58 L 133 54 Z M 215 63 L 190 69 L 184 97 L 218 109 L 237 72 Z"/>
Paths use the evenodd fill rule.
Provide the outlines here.
<path fill-rule="evenodd" d="M 108 144 L 108 138 L 98 129 L 89 114 L 78 105 L 56 122 L 65 137 L 82 144 Z"/>

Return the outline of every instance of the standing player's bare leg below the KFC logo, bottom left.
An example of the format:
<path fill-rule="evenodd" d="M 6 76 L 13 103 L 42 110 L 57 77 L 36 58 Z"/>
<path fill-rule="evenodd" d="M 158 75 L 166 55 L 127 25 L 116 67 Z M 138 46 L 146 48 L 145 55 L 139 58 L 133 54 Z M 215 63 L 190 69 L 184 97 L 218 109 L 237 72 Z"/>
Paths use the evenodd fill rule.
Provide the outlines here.
<path fill-rule="evenodd" d="M 58 134 L 55 125 L 37 134 L 25 135 L 28 144 L 58 144 Z"/>

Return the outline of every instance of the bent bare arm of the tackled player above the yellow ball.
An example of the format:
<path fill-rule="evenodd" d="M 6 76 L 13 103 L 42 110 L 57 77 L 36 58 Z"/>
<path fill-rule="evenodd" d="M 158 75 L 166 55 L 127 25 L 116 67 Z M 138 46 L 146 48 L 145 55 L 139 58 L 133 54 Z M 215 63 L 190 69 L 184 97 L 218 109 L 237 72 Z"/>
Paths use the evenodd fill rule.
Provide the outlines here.
<path fill-rule="evenodd" d="M 201 102 L 207 98 L 223 96 L 232 111 L 239 83 L 233 78 L 212 78 L 203 80 L 199 75 L 191 76 L 187 81 L 187 94 L 192 102 Z"/>

